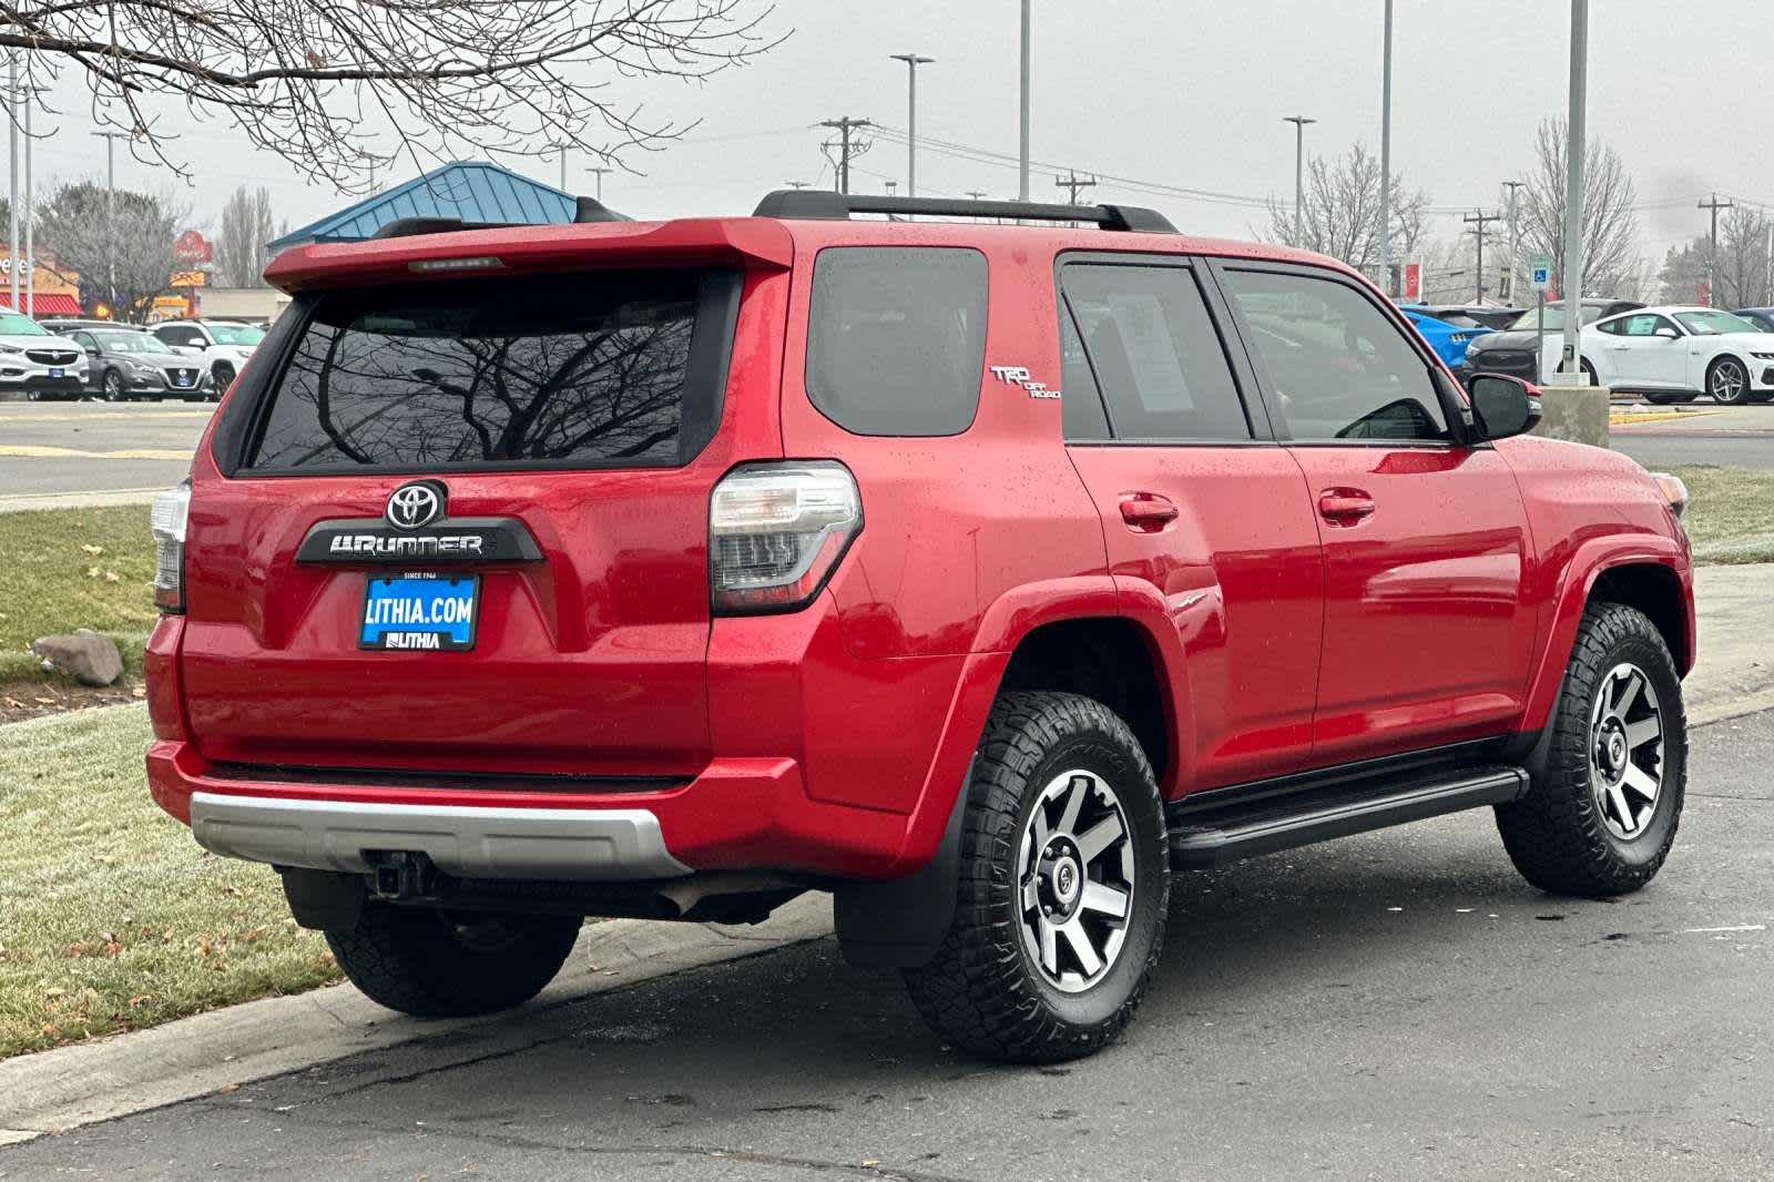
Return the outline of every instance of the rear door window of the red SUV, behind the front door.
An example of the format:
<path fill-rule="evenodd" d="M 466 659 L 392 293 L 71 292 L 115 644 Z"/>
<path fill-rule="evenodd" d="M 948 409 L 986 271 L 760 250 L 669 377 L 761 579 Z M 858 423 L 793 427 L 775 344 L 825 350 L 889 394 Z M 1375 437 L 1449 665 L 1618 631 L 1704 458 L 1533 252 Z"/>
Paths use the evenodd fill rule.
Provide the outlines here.
<path fill-rule="evenodd" d="M 1252 437 L 1192 268 L 1071 263 L 1061 286 L 1116 438 Z"/>

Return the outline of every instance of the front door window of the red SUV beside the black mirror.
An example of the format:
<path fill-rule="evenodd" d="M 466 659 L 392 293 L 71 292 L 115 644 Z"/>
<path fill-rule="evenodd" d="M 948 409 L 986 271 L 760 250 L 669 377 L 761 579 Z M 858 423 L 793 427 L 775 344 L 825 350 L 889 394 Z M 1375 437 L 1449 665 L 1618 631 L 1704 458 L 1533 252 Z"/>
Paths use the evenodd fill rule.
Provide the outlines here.
<path fill-rule="evenodd" d="M 1354 286 L 1228 270 L 1226 288 L 1293 438 L 1449 438 L 1430 366 Z"/>

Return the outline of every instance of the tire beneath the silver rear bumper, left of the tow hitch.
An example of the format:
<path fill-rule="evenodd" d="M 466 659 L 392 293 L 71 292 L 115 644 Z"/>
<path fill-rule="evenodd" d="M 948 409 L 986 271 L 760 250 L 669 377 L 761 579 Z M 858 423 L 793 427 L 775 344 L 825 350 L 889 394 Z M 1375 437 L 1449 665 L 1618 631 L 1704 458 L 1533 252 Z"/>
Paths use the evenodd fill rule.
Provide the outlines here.
<path fill-rule="evenodd" d="M 365 902 L 357 926 L 328 928 L 326 944 L 371 1001 L 413 1017 L 467 1017 L 539 994 L 573 951 L 578 928 L 575 916 L 451 916 Z"/>

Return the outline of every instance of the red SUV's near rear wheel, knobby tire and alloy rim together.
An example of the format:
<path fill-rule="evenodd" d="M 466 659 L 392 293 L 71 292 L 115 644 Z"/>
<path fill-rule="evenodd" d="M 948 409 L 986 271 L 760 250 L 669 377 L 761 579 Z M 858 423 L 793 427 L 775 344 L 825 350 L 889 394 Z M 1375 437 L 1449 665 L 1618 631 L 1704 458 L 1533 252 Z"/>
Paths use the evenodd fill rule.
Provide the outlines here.
<path fill-rule="evenodd" d="M 1164 946 L 1169 850 L 1126 724 L 1077 694 L 1004 694 L 974 758 L 954 919 L 905 974 L 972 1054 L 1050 1063 L 1126 1028 Z"/>

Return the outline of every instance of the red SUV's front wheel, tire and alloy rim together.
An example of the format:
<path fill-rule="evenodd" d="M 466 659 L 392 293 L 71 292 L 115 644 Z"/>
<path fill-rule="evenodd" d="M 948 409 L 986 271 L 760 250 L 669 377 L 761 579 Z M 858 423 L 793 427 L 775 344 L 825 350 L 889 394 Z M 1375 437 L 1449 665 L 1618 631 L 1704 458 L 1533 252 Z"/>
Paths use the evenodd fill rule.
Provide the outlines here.
<path fill-rule="evenodd" d="M 1542 891 L 1637 891 L 1675 845 L 1687 788 L 1682 682 L 1657 625 L 1591 603 L 1527 795 L 1497 806 L 1510 859 Z"/>

